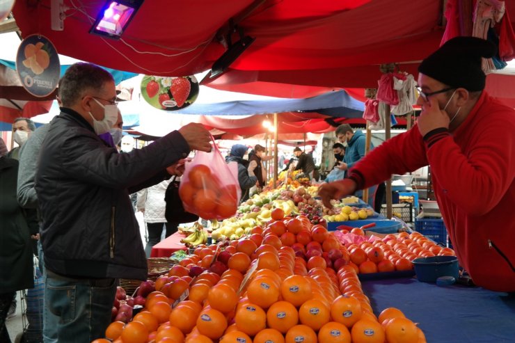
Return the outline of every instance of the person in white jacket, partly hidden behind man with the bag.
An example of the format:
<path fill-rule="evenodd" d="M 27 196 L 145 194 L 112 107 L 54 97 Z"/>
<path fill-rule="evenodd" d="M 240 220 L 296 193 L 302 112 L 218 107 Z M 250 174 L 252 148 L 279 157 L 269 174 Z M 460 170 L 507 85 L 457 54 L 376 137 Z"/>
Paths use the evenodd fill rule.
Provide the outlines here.
<path fill-rule="evenodd" d="M 161 241 L 163 228 L 166 228 L 165 237 L 177 232 L 179 224 L 168 223 L 164 216 L 166 210 L 164 194 L 170 182 L 171 179 L 164 180 L 137 193 L 136 209 L 143 212 L 143 219 L 148 230 L 148 242 L 145 246 L 147 257 L 150 257 L 152 247 Z"/>

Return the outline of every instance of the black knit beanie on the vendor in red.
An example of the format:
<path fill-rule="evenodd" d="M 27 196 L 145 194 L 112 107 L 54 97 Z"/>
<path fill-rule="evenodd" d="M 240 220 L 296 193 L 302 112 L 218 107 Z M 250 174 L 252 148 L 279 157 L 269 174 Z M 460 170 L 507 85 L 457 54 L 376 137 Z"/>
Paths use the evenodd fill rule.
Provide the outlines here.
<path fill-rule="evenodd" d="M 481 58 L 491 58 L 496 51 L 496 45 L 489 40 L 455 37 L 422 61 L 418 72 L 454 88 L 483 90 L 486 75 L 481 69 Z"/>

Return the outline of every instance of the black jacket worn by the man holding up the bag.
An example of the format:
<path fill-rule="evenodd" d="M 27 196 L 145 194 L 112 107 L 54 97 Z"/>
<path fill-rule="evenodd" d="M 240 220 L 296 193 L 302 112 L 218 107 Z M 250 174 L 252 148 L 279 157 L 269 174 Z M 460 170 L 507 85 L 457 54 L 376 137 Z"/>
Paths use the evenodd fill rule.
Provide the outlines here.
<path fill-rule="evenodd" d="M 45 267 L 63 276 L 145 280 L 147 262 L 129 193 L 170 175 L 187 157 L 177 131 L 118 154 L 84 118 L 62 109 L 42 143 L 35 190 Z"/>

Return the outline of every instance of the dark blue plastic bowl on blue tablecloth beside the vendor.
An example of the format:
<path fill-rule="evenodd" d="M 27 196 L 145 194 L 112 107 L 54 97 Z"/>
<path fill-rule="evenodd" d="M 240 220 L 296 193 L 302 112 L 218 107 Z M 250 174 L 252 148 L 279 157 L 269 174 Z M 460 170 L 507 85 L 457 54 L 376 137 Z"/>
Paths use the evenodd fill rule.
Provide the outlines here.
<path fill-rule="evenodd" d="M 456 256 L 432 256 L 415 258 L 412 261 L 415 274 L 421 282 L 436 282 L 441 276 L 459 277 L 458 258 Z"/>

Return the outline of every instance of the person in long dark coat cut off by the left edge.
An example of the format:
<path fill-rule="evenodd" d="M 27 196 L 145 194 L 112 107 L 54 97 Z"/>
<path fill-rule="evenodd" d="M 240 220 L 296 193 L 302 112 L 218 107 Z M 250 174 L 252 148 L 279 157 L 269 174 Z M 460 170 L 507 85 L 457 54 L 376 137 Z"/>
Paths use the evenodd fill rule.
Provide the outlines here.
<path fill-rule="evenodd" d="M 34 287 L 31 232 L 16 200 L 18 161 L 0 138 L 0 342 L 11 342 L 8 311 L 19 289 Z"/>

